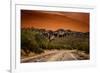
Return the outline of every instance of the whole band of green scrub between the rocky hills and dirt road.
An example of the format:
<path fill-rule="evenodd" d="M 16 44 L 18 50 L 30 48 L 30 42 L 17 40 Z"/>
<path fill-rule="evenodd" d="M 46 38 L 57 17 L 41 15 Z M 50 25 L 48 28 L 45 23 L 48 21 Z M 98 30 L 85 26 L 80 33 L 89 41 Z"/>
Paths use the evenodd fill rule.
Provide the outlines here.
<path fill-rule="evenodd" d="M 49 49 L 76 49 L 85 51 L 89 53 L 89 34 L 86 36 L 65 36 L 65 37 L 55 37 L 52 41 L 44 36 L 41 30 L 21 30 L 21 49 L 24 50 L 26 54 L 34 52 L 36 54 L 43 53 L 44 50 Z"/>

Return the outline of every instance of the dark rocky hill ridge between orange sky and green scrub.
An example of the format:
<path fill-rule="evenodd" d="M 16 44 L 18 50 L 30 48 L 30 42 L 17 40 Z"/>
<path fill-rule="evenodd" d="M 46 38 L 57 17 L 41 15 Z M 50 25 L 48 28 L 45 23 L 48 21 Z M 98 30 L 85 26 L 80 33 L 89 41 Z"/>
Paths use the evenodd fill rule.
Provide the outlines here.
<path fill-rule="evenodd" d="M 89 37 L 89 32 L 77 32 L 72 30 L 64 30 L 64 29 L 57 29 L 56 31 L 52 30 L 45 30 L 45 29 L 37 29 L 37 28 L 23 28 L 23 30 L 32 30 L 36 32 L 40 32 L 45 37 L 66 37 L 66 36 L 76 36 L 76 37 Z"/>

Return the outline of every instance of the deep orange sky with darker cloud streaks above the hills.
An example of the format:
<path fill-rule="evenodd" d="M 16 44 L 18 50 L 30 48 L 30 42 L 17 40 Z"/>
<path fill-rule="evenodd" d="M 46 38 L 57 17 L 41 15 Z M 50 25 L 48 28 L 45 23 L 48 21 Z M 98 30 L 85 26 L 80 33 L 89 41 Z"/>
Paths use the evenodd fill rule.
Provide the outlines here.
<path fill-rule="evenodd" d="M 89 31 L 89 13 L 21 10 L 22 28 Z"/>

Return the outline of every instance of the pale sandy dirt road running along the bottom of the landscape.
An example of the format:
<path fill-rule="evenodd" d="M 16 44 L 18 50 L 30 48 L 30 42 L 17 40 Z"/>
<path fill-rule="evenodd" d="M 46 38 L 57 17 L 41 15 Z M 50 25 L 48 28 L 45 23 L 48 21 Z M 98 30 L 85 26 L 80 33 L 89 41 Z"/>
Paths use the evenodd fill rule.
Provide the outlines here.
<path fill-rule="evenodd" d="M 48 51 L 41 55 L 22 59 L 21 62 L 24 63 L 24 62 L 80 60 L 80 56 L 72 52 L 73 50 Z"/>

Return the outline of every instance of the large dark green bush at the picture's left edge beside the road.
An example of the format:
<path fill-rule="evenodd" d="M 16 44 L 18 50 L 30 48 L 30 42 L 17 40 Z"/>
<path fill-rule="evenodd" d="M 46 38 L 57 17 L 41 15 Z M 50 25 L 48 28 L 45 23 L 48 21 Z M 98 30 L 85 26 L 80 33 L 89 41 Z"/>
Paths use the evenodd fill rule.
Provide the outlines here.
<path fill-rule="evenodd" d="M 39 47 L 35 35 L 39 33 L 30 30 L 21 31 L 21 49 L 26 53 L 27 50 L 35 53 L 42 53 L 43 50 Z"/>

